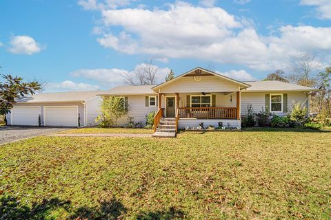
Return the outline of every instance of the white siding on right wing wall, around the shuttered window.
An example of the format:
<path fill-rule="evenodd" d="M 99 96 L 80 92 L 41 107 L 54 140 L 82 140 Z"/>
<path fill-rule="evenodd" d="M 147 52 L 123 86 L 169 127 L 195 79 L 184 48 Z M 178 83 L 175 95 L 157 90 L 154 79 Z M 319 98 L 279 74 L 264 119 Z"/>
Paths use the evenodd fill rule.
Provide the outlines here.
<path fill-rule="evenodd" d="M 253 92 L 242 92 L 241 93 L 241 114 L 247 113 L 248 104 L 252 104 L 254 111 L 257 113 L 262 110 L 265 110 L 265 94 L 272 93 L 253 93 Z M 301 102 L 303 106 L 306 106 L 307 94 L 305 92 L 296 91 L 296 92 L 287 92 L 281 91 L 277 94 L 288 94 L 288 112 L 292 110 L 293 104 L 296 102 Z M 277 115 L 285 115 L 287 113 L 277 113 Z"/>

